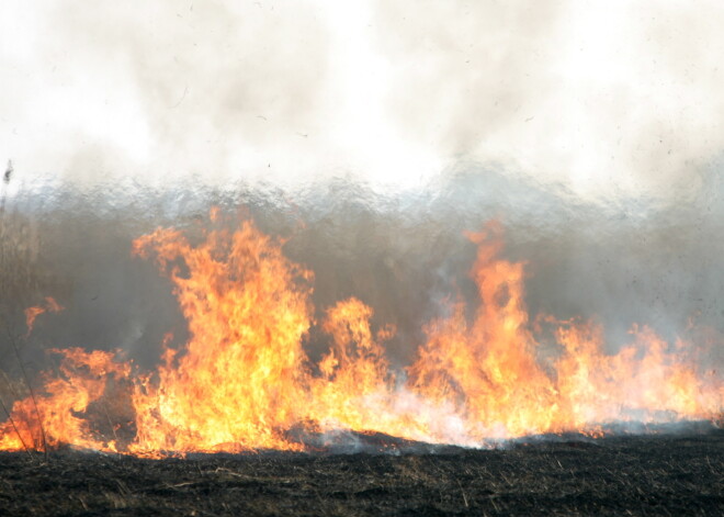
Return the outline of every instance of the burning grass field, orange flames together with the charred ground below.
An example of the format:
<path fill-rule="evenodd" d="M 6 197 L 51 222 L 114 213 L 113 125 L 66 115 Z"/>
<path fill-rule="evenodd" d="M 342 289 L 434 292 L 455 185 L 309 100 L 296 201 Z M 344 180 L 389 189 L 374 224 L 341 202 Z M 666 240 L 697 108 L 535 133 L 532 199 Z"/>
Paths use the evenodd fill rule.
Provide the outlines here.
<path fill-rule="evenodd" d="M 497 224 L 470 235 L 479 306 L 450 301 L 406 368 L 373 307 L 316 310 L 314 273 L 281 241 L 214 224 L 134 244 L 189 327 L 156 370 L 66 348 L 42 382 L 4 378 L 0 514 L 721 514 L 724 385 L 705 346 L 642 326 L 609 353 L 592 324 L 531 318 Z M 59 310 L 26 312 L 16 339 Z M 313 327 L 330 342 L 316 362 Z M 699 432 L 655 425 L 687 420 Z"/>

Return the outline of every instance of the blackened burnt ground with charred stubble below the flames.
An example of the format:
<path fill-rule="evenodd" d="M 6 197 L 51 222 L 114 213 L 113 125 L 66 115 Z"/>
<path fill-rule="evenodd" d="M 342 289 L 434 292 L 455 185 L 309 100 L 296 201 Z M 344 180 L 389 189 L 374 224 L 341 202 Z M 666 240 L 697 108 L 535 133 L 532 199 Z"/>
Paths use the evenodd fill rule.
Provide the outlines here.
<path fill-rule="evenodd" d="M 724 515 L 724 431 L 496 450 L 0 454 L 0 515 Z"/>

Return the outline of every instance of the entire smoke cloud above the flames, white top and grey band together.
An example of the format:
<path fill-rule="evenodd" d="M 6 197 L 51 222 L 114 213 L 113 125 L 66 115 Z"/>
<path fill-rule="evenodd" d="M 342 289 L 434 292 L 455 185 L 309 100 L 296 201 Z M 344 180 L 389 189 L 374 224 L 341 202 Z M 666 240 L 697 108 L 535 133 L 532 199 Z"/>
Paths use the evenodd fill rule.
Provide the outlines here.
<path fill-rule="evenodd" d="M 213 204 L 289 239 L 318 311 L 354 295 L 396 325 L 396 363 L 445 301 L 478 303 L 463 232 L 490 218 L 533 315 L 596 317 L 613 348 L 634 323 L 724 329 L 716 2 L 8 0 L 0 16 L 2 195 L 39 249 L 27 301 L 67 307 L 39 342 L 148 362 L 166 331 L 183 340 L 129 243 L 199 231 Z"/>

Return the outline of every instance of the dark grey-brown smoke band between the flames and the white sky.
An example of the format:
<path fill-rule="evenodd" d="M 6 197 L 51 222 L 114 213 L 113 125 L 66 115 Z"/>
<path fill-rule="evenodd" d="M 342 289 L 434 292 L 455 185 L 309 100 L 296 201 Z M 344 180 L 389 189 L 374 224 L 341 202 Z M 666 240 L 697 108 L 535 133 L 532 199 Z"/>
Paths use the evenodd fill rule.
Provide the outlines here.
<path fill-rule="evenodd" d="M 699 342 L 719 342 L 724 203 L 721 173 L 706 178 L 710 194 L 690 207 L 632 202 L 626 210 L 577 204 L 565 192 L 476 169 L 451 171 L 430 188 L 393 198 L 351 180 L 325 180 L 302 192 L 244 184 L 152 191 L 127 182 L 110 192 L 115 203 L 105 190 L 87 194 L 72 184 L 27 189 L 11 207 L 34 221 L 36 258 L 27 266 L 36 280 L 32 288 L 3 290 L 2 303 L 21 329 L 22 310 L 46 295 L 66 307 L 38 318 L 32 339 L 41 348 L 121 348 L 150 364 L 165 334 L 182 344 L 186 330 L 170 282 L 150 261 L 133 258 L 131 243 L 159 225 L 181 228 L 193 240 L 208 225 L 210 207 L 219 206 L 226 224 L 253 218 L 285 239 L 287 257 L 314 271 L 317 322 L 355 296 L 374 310 L 374 328 L 394 325 L 387 353 L 401 367 L 425 342 L 426 323 L 445 315 L 450 301 L 462 296 L 471 315 L 479 304 L 468 274 L 476 247 L 464 233 L 496 218 L 505 228 L 504 256 L 525 263 L 532 318 L 593 318 L 611 352 L 632 341 L 635 324 L 669 342 L 694 325 L 713 333 L 695 336 Z M 16 292 L 24 293 L 22 302 L 10 294 Z M 316 360 L 329 338 L 315 327 L 305 347 Z"/>

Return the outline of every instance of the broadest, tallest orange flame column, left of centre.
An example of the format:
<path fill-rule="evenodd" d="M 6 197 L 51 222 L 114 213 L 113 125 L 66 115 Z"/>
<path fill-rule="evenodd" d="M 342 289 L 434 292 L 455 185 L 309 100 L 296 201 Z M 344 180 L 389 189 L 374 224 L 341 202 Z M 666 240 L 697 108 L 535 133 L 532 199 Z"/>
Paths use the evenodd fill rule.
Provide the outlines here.
<path fill-rule="evenodd" d="M 298 448 L 282 430 L 308 405 L 302 340 L 312 272 L 251 223 L 212 232 L 195 248 L 159 229 L 134 250 L 156 255 L 191 334 L 183 353 L 167 349 L 157 381 L 145 378 L 135 393 L 134 450 Z"/>

